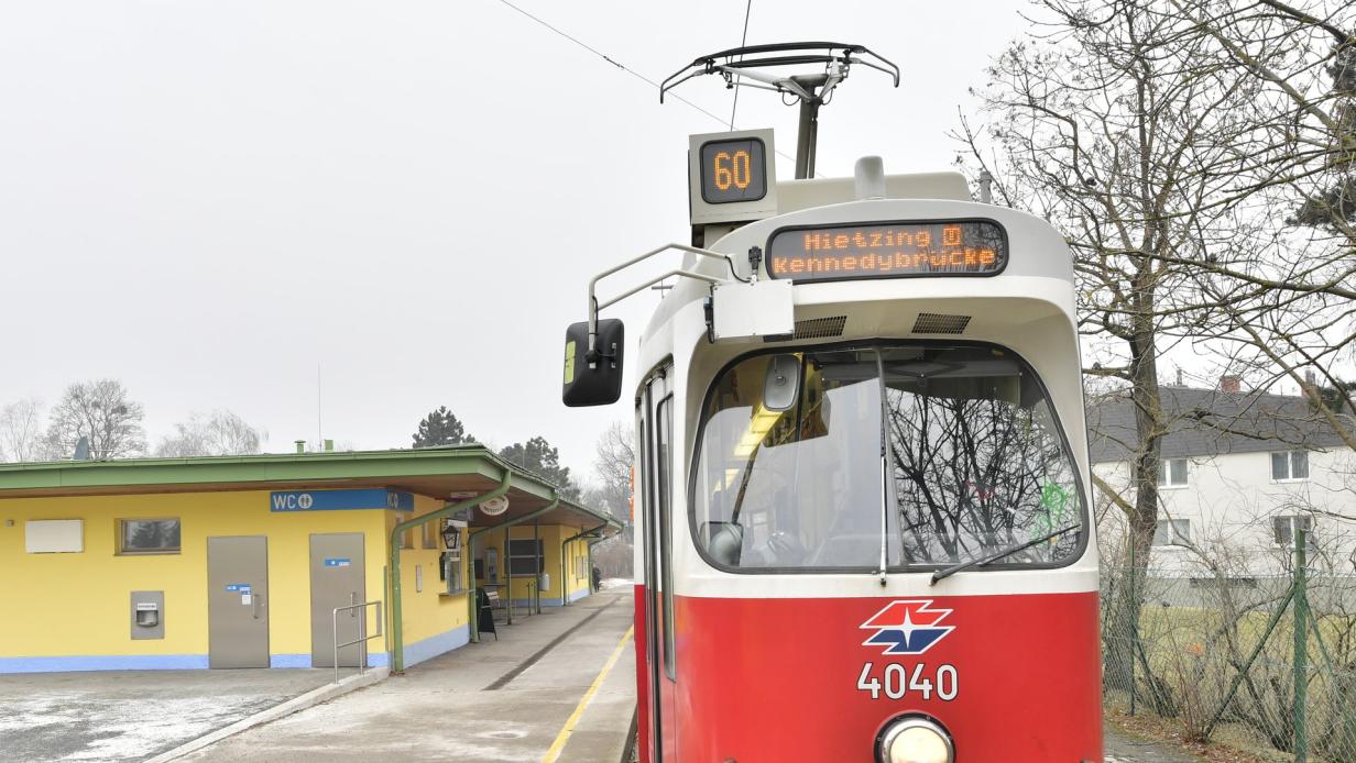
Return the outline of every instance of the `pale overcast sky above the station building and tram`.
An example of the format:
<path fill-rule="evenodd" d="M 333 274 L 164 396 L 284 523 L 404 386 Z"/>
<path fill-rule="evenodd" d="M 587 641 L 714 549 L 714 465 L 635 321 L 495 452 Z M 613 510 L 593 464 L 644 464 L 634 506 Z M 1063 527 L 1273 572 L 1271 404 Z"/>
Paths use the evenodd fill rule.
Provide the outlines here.
<path fill-rule="evenodd" d="M 515 4 L 654 80 L 738 45 L 744 16 Z M 903 69 L 842 85 L 820 175 L 945 169 L 1020 7 L 755 0 L 749 42 L 860 42 Z M 731 108 L 715 77 L 679 95 Z M 793 154 L 795 117 L 746 89 L 735 123 Z M 720 129 L 498 0 L 3 0 L 0 404 L 114 377 L 152 442 L 229 408 L 270 451 L 316 439 L 317 413 L 339 443 L 408 447 L 447 405 L 589 472 L 631 411 L 560 404 L 564 328 L 594 272 L 687 237 L 686 136 Z M 656 302 L 613 314 L 633 339 Z"/>

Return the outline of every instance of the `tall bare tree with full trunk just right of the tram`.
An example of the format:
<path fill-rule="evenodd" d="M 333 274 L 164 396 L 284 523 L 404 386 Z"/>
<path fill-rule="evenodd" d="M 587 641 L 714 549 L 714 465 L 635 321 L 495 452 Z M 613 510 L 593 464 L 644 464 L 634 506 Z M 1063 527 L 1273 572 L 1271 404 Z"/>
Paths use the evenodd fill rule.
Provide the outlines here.
<path fill-rule="evenodd" d="M 965 138 L 993 167 L 1006 203 L 1066 234 L 1093 360 L 1085 373 L 1119 382 L 1134 404 L 1135 442 L 1127 445 L 1135 489 L 1121 496 L 1098 484 L 1125 515 L 1125 561 L 1136 583 L 1108 602 L 1115 627 L 1139 618 L 1130 591 L 1142 588 L 1158 522 L 1161 440 L 1173 424 L 1158 359 L 1220 298 L 1203 293 L 1192 263 L 1256 228 L 1218 202 L 1230 198 L 1231 146 L 1252 129 L 1243 114 L 1257 87 L 1189 35 L 1188 19 L 1165 15 L 1154 0 L 1039 4 L 1047 26 L 994 62 L 982 94 L 991 122 L 982 136 L 965 125 Z M 1234 298 L 1227 276 L 1219 279 L 1224 298 Z M 1108 672 L 1128 680 L 1131 659 L 1112 655 Z"/>

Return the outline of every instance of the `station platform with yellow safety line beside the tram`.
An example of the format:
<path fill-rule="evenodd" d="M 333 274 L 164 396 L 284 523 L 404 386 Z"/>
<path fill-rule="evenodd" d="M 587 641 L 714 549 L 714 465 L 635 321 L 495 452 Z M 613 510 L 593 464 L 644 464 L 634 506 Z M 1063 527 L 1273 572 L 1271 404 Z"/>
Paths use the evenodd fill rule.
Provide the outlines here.
<path fill-rule="evenodd" d="M 624 585 L 515 615 L 498 641 L 485 634 L 182 759 L 621 763 L 636 710 L 632 602 Z"/>

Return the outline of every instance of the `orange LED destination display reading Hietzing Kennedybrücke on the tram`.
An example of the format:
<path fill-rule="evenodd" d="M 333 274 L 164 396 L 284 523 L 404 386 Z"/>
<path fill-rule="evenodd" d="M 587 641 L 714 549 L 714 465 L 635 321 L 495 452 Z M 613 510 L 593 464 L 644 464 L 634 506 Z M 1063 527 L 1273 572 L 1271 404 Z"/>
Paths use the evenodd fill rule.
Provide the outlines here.
<path fill-rule="evenodd" d="M 1008 264 L 997 222 L 877 222 L 778 230 L 767 272 L 791 281 L 994 275 Z"/>

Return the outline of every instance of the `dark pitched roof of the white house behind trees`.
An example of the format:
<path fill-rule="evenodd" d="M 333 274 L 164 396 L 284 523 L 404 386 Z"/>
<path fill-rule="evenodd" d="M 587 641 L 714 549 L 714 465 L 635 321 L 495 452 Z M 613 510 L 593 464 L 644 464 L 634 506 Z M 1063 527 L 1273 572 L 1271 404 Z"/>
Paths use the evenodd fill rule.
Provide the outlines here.
<path fill-rule="evenodd" d="M 1168 420 L 1163 458 L 1272 450 L 1321 450 L 1342 438 L 1299 396 L 1162 386 Z M 1088 447 L 1093 463 L 1125 461 L 1139 443 L 1125 390 L 1089 400 Z"/>

